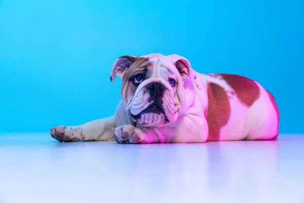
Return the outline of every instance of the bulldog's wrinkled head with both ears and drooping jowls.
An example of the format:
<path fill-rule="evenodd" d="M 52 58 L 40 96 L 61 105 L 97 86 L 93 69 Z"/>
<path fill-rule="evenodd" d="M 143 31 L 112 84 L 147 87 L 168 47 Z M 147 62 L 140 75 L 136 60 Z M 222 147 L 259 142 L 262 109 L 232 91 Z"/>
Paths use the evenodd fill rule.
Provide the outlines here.
<path fill-rule="evenodd" d="M 175 122 L 183 111 L 184 88 L 196 73 L 179 55 L 121 56 L 111 71 L 111 81 L 122 78 L 121 98 L 137 124 L 163 126 Z"/>

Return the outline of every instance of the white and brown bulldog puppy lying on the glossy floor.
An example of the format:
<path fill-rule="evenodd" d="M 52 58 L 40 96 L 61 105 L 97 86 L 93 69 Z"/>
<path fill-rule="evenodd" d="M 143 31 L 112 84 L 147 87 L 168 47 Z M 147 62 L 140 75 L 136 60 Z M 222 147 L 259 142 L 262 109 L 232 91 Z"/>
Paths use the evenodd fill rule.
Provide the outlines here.
<path fill-rule="evenodd" d="M 275 140 L 279 110 L 259 83 L 238 75 L 200 74 L 179 55 L 122 56 L 111 81 L 122 79 L 121 101 L 109 118 L 58 126 L 59 141 L 188 143 Z"/>

